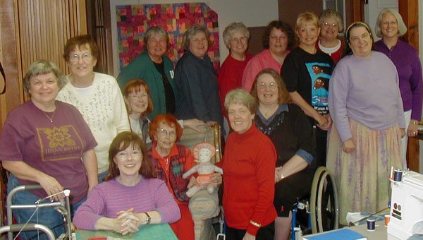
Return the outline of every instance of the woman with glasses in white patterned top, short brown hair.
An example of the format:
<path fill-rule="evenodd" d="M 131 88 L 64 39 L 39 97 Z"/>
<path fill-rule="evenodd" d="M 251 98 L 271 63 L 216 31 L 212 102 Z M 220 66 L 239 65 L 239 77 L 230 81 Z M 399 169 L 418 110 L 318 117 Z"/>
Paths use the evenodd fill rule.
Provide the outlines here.
<path fill-rule="evenodd" d="M 94 72 L 99 48 L 90 35 L 72 37 L 66 42 L 63 57 L 71 74 L 56 100 L 73 104 L 90 126 L 98 145 L 99 183 L 109 172 L 109 146 L 123 131 L 129 131 L 125 102 L 116 79 Z"/>

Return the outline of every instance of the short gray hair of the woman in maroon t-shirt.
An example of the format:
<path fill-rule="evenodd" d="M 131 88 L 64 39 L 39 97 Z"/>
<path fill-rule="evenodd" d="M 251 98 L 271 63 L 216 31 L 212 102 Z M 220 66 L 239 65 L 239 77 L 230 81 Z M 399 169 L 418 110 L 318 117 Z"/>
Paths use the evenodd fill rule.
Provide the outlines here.
<path fill-rule="evenodd" d="M 32 77 L 47 73 L 53 73 L 54 76 L 56 76 L 59 90 L 61 90 L 66 85 L 66 83 L 68 83 L 68 78 L 62 73 L 60 68 L 54 64 L 54 62 L 41 59 L 33 62 L 27 69 L 25 77 L 23 78 L 23 90 L 30 94 L 30 79 Z"/>

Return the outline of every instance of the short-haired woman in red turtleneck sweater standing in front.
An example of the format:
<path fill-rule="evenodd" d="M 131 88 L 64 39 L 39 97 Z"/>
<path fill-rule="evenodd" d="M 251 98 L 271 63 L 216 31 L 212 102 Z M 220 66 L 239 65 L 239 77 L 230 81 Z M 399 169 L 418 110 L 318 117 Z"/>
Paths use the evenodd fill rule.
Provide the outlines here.
<path fill-rule="evenodd" d="M 233 132 L 223 156 L 226 239 L 273 239 L 276 150 L 253 119 L 255 98 L 242 89 L 225 97 Z"/>

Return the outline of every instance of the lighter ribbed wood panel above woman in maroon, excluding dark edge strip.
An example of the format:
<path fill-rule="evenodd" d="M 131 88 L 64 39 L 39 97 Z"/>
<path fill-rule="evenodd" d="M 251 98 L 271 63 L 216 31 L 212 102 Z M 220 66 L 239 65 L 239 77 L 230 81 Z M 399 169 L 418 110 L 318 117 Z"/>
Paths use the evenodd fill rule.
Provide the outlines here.
<path fill-rule="evenodd" d="M 22 68 L 37 59 L 54 61 L 65 72 L 63 47 L 70 37 L 87 33 L 85 0 L 17 1 Z"/>

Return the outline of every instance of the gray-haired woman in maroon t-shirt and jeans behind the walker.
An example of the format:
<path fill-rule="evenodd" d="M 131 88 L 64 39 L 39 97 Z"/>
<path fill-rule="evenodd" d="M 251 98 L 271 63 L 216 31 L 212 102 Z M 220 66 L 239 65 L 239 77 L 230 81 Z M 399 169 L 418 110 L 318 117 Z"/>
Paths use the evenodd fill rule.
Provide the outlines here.
<path fill-rule="evenodd" d="M 25 74 L 23 87 L 30 100 L 8 114 L 0 136 L 0 160 L 11 172 L 9 192 L 23 184 L 39 184 L 42 189 L 16 193 L 13 205 L 34 204 L 69 189 L 73 213 L 97 184 L 97 142 L 78 109 L 56 101 L 65 84 L 66 76 L 50 61 L 36 61 Z M 32 209 L 13 210 L 21 224 L 33 213 Z M 46 225 L 56 236 L 64 233 L 63 216 L 54 208 L 39 208 L 30 222 Z M 36 234 L 22 232 L 21 238 Z"/>

